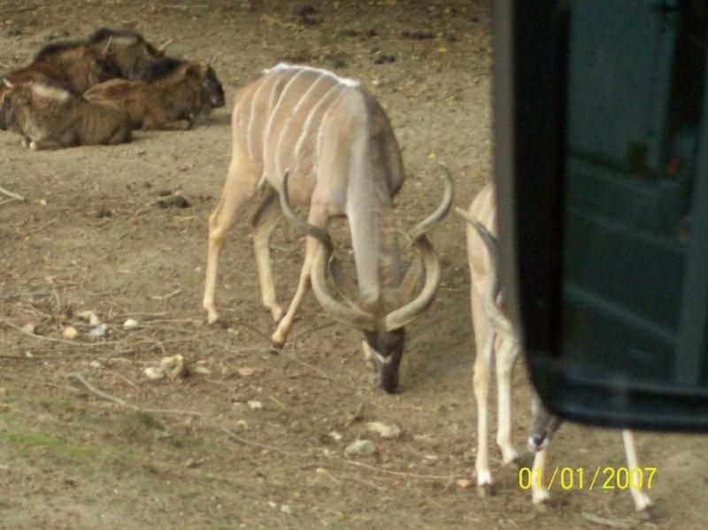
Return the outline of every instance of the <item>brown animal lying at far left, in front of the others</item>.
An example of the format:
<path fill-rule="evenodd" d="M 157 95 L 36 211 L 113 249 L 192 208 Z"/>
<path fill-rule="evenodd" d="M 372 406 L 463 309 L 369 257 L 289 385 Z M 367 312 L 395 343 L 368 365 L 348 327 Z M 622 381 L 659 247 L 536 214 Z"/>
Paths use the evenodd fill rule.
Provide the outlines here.
<path fill-rule="evenodd" d="M 130 139 L 130 119 L 125 111 L 94 104 L 68 88 L 42 82 L 13 85 L 7 90 L 0 113 L 7 128 L 23 137 L 32 150 L 75 145 L 116 144 Z"/>

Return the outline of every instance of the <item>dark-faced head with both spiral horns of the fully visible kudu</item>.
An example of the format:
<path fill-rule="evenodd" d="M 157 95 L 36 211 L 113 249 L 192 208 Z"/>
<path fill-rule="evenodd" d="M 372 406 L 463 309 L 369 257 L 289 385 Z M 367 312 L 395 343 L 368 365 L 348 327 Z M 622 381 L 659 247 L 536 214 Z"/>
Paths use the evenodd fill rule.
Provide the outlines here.
<path fill-rule="evenodd" d="M 285 217 L 322 243 L 312 265 L 312 291 L 327 313 L 346 326 L 357 328 L 362 332 L 376 365 L 379 384 L 388 393 L 393 393 L 398 388 L 398 368 L 404 353 L 404 328 L 433 302 L 440 284 L 440 263 L 426 233 L 447 215 L 452 204 L 450 171 L 444 166 L 443 169 L 445 172 L 443 201 L 437 210 L 413 228 L 411 240 L 413 248 L 417 250 L 417 256 L 404 274 L 400 285 L 389 289 L 386 296 L 361 303 L 355 301 L 357 296 L 350 295 L 354 290 L 353 283 L 346 280 L 342 274 L 342 267 L 333 254 L 334 244 L 327 230 L 312 227 L 297 217 L 292 210 L 288 196 L 289 172 L 286 171 L 283 176 L 281 207 Z M 343 302 L 330 288 L 327 271 L 334 280 L 336 295 L 339 295 Z M 423 288 L 418 296 L 413 297 L 413 291 L 419 285 L 423 274 L 425 274 Z"/>

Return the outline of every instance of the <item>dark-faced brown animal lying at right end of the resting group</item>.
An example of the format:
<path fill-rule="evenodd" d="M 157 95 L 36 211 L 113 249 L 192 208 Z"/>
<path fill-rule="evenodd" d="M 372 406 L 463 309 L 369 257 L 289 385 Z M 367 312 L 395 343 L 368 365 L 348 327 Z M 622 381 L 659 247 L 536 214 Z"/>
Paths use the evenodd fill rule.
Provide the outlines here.
<path fill-rule="evenodd" d="M 124 109 L 135 129 L 187 130 L 197 116 L 224 105 L 224 90 L 211 63 L 160 58 L 150 65 L 145 81 L 105 81 L 89 88 L 84 97 Z"/>

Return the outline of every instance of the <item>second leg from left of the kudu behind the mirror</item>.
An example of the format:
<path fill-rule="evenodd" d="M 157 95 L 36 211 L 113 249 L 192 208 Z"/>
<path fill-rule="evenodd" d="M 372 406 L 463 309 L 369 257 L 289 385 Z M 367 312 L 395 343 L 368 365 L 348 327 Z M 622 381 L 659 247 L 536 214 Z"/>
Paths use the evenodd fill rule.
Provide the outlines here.
<path fill-rule="evenodd" d="M 519 344 L 497 337 L 495 357 L 498 399 L 496 445 L 502 450 L 502 461 L 506 465 L 519 459 L 519 453 L 512 444 L 512 377 L 519 358 Z"/>

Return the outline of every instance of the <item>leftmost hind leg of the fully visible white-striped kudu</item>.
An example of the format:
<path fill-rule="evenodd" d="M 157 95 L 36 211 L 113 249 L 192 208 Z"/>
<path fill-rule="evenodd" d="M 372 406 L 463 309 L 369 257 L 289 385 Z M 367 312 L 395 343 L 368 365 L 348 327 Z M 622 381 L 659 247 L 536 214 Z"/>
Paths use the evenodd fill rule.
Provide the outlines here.
<path fill-rule="evenodd" d="M 206 260 L 206 280 L 204 282 L 204 310 L 207 322 L 213 324 L 219 319 L 216 311 L 215 289 L 219 267 L 219 254 L 224 246 L 228 231 L 243 212 L 243 207 L 253 195 L 260 174 L 247 157 L 235 151 L 228 167 L 227 181 L 224 184 L 219 204 L 209 216 L 209 250 Z"/>

